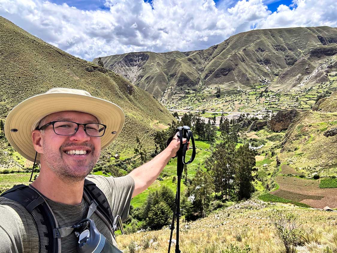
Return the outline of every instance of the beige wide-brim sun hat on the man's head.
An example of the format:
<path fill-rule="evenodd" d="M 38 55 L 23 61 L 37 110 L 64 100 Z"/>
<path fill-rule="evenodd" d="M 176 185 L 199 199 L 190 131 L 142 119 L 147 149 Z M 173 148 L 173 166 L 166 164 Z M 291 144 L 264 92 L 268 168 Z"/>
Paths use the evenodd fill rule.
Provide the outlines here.
<path fill-rule="evenodd" d="M 125 122 L 123 110 L 110 101 L 91 96 L 85 90 L 54 88 L 24 100 L 9 112 L 5 121 L 7 140 L 24 158 L 34 162 L 36 151 L 32 131 L 42 118 L 61 111 L 86 112 L 94 115 L 98 123 L 105 124 L 105 134 L 100 137 L 101 149 L 117 138 Z M 39 154 L 36 162 L 40 163 Z"/>

